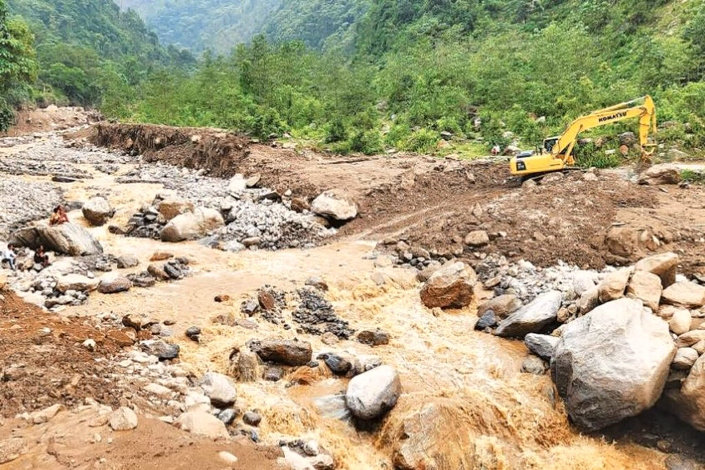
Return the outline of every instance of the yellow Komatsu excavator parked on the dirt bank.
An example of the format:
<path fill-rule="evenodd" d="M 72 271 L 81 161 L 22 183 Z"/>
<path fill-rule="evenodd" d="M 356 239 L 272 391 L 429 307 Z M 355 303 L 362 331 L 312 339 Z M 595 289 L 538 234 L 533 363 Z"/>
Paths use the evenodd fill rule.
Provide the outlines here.
<path fill-rule="evenodd" d="M 514 156 L 509 162 L 510 170 L 514 175 L 521 176 L 522 179 L 568 170 L 575 165 L 572 151 L 580 132 L 632 118 L 639 118 L 639 144 L 642 146 L 642 160 L 648 161 L 653 152 L 647 151 L 646 147 L 654 147 L 655 145 L 649 143 L 649 131 L 653 128 L 654 134 L 656 134 L 656 106 L 654 100 L 646 96 L 599 109 L 577 118 L 570 123 L 562 135 L 544 140 L 544 149 L 539 155 L 534 154 L 533 151 L 525 151 Z"/>

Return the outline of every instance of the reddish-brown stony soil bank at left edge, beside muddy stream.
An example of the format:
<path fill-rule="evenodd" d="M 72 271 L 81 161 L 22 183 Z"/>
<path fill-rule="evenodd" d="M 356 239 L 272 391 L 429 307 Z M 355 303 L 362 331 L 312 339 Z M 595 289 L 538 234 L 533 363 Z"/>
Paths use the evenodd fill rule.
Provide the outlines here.
<path fill-rule="evenodd" d="M 116 330 L 99 330 L 77 319 L 62 321 L 11 291 L 0 302 L 0 416 L 33 412 L 54 403 L 80 404 L 91 397 L 117 404 L 109 367 L 101 358 L 120 350 Z M 44 329 L 48 328 L 48 329 Z M 81 344 L 92 338 L 89 352 Z"/>

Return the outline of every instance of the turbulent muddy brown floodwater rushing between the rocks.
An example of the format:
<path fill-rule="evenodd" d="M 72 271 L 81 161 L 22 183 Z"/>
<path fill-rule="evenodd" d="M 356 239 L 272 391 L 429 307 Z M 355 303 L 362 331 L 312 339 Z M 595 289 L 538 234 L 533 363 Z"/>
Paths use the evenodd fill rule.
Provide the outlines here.
<path fill-rule="evenodd" d="M 80 151 L 80 150 L 75 150 Z M 90 171 L 90 166 L 85 169 Z M 124 222 L 141 204 L 153 199 L 160 185 L 118 185 L 116 175 L 97 175 L 68 185 L 66 198 L 85 201 L 105 194 L 118 209 L 115 222 Z M 39 180 L 48 178 L 35 177 Z M 70 214 L 81 223 L 79 211 Z M 135 311 L 159 320 L 176 321 L 176 342 L 185 366 L 196 373 L 227 373 L 233 347 L 252 338 L 282 336 L 312 343 L 314 357 L 331 350 L 376 354 L 396 367 L 403 395 L 384 423 L 356 429 L 345 417 L 339 396 L 345 379 L 333 378 L 321 366 L 298 377 L 305 384 L 240 383 L 238 402 L 263 416 L 259 438 L 316 438 L 343 469 L 470 469 L 470 468 L 661 468 L 664 454 L 636 445 L 615 445 L 580 435 L 570 427 L 548 376 L 520 373 L 526 350 L 521 342 L 474 331 L 474 305 L 435 316 L 419 301 L 415 271 L 376 268 L 374 241 L 337 241 L 314 249 L 279 252 L 219 252 L 195 242 L 166 245 L 154 240 L 111 235 L 90 228 L 111 254 L 135 254 L 140 268 L 156 250 L 192 259 L 193 275 L 147 290 L 123 295 L 95 293 L 88 302 L 63 314 L 118 315 Z M 378 286 L 370 276 L 382 273 Z M 286 331 L 258 319 L 256 330 L 214 325 L 219 314 L 240 317 L 240 303 L 258 287 L 269 284 L 295 290 L 309 276 L 321 276 L 331 286 L 328 297 L 342 319 L 356 329 L 381 328 L 389 345 L 369 347 L 355 340 L 326 346 L 320 338 Z M 227 294 L 228 302 L 214 296 Z M 285 316 L 288 314 L 285 314 Z M 293 323 L 292 323 L 293 324 Z M 201 326 L 201 342 L 183 332 Z M 290 378 L 290 377 L 289 377 Z"/>

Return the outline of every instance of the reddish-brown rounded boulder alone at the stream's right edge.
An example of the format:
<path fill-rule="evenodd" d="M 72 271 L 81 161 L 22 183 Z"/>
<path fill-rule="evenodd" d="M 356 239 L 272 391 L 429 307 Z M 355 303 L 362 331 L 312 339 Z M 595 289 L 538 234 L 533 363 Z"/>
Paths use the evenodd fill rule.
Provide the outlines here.
<path fill-rule="evenodd" d="M 421 288 L 421 301 L 434 307 L 465 307 L 472 302 L 475 272 L 465 263 L 446 264 L 433 273 Z"/>

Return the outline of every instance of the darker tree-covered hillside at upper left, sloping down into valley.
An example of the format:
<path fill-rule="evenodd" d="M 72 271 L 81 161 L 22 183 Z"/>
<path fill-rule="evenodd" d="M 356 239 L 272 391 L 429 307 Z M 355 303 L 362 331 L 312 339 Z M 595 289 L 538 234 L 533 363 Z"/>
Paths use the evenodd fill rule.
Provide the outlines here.
<path fill-rule="evenodd" d="M 120 102 L 157 68 L 195 65 L 190 53 L 161 47 L 135 12 L 112 0 L 6 0 L 3 8 L 16 49 L 9 54 L 24 58 L 26 69 L 22 84 L 3 82 L 15 106 Z"/>

